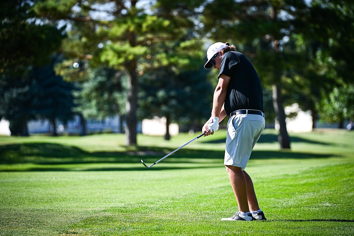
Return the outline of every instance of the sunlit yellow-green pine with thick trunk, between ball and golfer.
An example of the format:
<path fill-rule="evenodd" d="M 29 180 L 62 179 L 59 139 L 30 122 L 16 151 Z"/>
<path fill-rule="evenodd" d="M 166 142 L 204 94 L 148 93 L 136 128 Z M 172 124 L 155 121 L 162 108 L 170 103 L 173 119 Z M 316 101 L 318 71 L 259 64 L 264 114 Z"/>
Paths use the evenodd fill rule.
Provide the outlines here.
<path fill-rule="evenodd" d="M 73 29 L 80 32 L 78 35 L 69 33 L 74 43 L 64 44 L 66 54 L 72 52 L 70 59 L 76 57 L 89 61 L 92 67 L 107 65 L 111 69 L 125 71 L 126 137 L 129 145 L 137 144 L 138 78 L 150 70 L 164 67 L 169 61 L 174 60 L 178 67 L 189 63 L 185 58 L 171 56 L 169 47 L 176 42 L 179 44 L 191 39 L 185 38 L 185 35 L 193 30 L 194 23 L 186 13 L 193 12 L 195 7 L 202 4 L 199 1 L 179 1 L 173 4 L 170 1 L 156 1 L 146 2 L 144 8 L 139 6 L 142 2 L 87 0 L 76 4 L 58 0 L 52 4 L 52 0 L 46 0 L 35 6 L 36 12 L 43 17 L 53 21 L 69 20 Z M 104 17 L 97 16 L 97 13 L 102 13 Z M 192 41 L 184 46 L 188 46 L 191 52 L 194 43 Z M 72 63 L 64 64 L 68 67 Z M 83 73 L 82 76 L 87 74 Z M 67 78 L 66 75 L 64 77 Z"/>

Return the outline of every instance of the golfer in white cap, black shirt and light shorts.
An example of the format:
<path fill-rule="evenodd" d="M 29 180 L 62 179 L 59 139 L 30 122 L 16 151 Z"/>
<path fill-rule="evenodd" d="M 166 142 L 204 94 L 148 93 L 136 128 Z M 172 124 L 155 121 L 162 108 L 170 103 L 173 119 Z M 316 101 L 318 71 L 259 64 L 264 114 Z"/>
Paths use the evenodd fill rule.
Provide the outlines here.
<path fill-rule="evenodd" d="M 204 68 L 219 70 L 210 119 L 202 131 L 214 134 L 229 116 L 224 165 L 234 190 L 238 211 L 221 220 L 266 220 L 245 168 L 253 147 L 264 130 L 263 92 L 258 74 L 234 45 L 216 42 L 207 50 Z"/>

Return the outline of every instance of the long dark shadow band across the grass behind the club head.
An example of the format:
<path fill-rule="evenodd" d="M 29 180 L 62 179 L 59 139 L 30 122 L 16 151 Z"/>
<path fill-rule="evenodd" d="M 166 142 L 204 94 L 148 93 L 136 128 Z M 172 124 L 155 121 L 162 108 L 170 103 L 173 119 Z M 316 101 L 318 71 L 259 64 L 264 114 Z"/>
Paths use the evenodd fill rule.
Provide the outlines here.
<path fill-rule="evenodd" d="M 0 145 L 0 164 L 34 164 L 28 167 L 7 166 L 6 171 L 131 171 L 146 170 L 141 164 L 154 163 L 173 150 L 158 147 L 136 147 L 127 152 L 87 152 L 74 146 L 53 143 L 22 143 Z M 253 151 L 250 160 L 255 159 L 316 159 L 333 157 L 333 154 L 314 154 L 291 151 Z M 215 167 L 223 164 L 224 151 L 195 150 L 183 148 L 166 158 L 164 163 L 171 166 L 156 165 L 150 169 L 178 169 Z M 194 165 L 174 166 L 173 163 Z M 74 165 L 73 165 L 74 164 Z M 77 165 L 76 165 L 77 164 Z M 85 164 L 86 166 L 82 167 Z M 97 165 L 93 165 L 97 164 Z M 103 165 L 102 165 L 103 164 Z M 104 165 L 106 164 L 106 165 Z M 112 164 L 112 167 L 107 167 Z M 121 166 L 113 164 L 124 164 Z M 129 165 L 138 164 L 138 165 Z M 59 166 L 60 165 L 60 166 Z M 62 166 L 71 165 L 71 166 Z M 76 166 L 75 166 L 76 165 Z M 79 166 L 81 165 L 81 166 Z M 5 170 L 5 168 L 1 168 Z"/>

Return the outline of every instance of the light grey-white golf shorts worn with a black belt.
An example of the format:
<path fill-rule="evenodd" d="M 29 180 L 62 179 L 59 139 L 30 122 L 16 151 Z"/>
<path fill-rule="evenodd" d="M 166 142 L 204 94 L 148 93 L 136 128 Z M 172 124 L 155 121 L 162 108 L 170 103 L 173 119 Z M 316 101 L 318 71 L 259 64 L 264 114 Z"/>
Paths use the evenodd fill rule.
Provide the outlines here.
<path fill-rule="evenodd" d="M 241 167 L 244 171 L 264 126 L 261 115 L 232 116 L 227 123 L 224 165 Z"/>

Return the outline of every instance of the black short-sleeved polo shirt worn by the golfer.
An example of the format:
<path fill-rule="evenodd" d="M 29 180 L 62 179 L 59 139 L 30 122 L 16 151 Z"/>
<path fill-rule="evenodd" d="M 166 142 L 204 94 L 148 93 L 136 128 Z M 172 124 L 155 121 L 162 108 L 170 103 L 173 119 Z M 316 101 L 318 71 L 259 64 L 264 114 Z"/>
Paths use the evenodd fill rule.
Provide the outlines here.
<path fill-rule="evenodd" d="M 261 80 L 244 54 L 226 52 L 221 60 L 219 76 L 221 74 L 231 77 L 224 103 L 227 115 L 240 109 L 264 112 Z"/>

